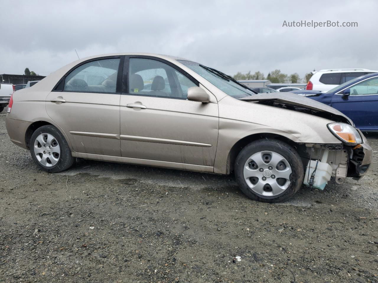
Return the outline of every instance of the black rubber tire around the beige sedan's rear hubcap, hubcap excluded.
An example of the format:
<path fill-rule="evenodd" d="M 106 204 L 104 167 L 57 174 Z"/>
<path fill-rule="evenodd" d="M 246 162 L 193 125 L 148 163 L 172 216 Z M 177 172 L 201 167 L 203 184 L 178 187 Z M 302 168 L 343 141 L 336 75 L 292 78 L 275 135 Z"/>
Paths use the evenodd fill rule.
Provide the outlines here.
<path fill-rule="evenodd" d="M 43 164 L 41 164 L 37 160 L 36 155 L 34 154 L 34 142 L 36 141 L 36 138 L 40 134 L 43 134 L 43 133 L 53 135 L 54 138 L 57 140 L 59 147 L 60 147 L 59 161 L 54 166 L 51 166 L 51 167 L 47 167 L 47 166 L 44 166 Z M 64 138 L 62 133 L 53 125 L 46 125 L 46 126 L 42 126 L 38 129 L 36 129 L 36 131 L 34 131 L 33 135 L 30 138 L 29 148 L 30 148 L 31 157 L 34 160 L 34 163 L 36 163 L 36 165 L 40 169 L 42 169 L 43 171 L 49 172 L 49 173 L 56 173 L 56 172 L 67 170 L 75 162 L 75 158 L 72 157 L 71 149 L 68 146 L 66 139 Z"/>

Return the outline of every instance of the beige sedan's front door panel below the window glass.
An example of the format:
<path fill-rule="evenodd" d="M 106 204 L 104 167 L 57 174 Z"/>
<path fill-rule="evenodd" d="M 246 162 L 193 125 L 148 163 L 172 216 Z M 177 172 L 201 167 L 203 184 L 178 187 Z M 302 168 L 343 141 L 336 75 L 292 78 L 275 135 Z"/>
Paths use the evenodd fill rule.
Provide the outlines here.
<path fill-rule="evenodd" d="M 217 103 L 122 95 L 120 105 L 123 157 L 214 165 Z"/>

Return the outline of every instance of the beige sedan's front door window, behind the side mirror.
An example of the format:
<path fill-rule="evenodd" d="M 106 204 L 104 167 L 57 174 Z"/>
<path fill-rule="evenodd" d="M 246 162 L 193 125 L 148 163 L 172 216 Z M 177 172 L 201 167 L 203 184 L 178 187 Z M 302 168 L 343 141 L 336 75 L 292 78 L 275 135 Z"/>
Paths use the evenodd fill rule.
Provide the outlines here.
<path fill-rule="evenodd" d="M 129 94 L 186 99 L 192 86 L 197 85 L 163 62 L 145 58 L 129 60 Z"/>

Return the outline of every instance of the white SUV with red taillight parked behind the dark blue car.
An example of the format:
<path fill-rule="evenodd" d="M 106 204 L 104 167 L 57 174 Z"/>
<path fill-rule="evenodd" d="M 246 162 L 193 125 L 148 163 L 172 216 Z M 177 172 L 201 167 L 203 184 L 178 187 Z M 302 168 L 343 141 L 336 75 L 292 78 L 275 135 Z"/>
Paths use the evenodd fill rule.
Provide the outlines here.
<path fill-rule="evenodd" d="M 306 89 L 326 92 L 361 75 L 376 73 L 369 69 L 328 69 L 311 72 Z"/>

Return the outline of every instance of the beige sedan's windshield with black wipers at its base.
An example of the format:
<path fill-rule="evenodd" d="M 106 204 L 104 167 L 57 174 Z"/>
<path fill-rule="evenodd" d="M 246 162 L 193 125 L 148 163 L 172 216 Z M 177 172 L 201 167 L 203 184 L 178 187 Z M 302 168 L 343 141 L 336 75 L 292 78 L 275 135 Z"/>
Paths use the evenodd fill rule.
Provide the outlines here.
<path fill-rule="evenodd" d="M 178 62 L 187 66 L 205 80 L 208 80 L 218 89 L 234 98 L 243 98 L 255 94 L 255 92 L 251 91 L 245 85 L 237 82 L 234 78 L 213 68 L 209 68 L 191 61 L 178 60 Z"/>

